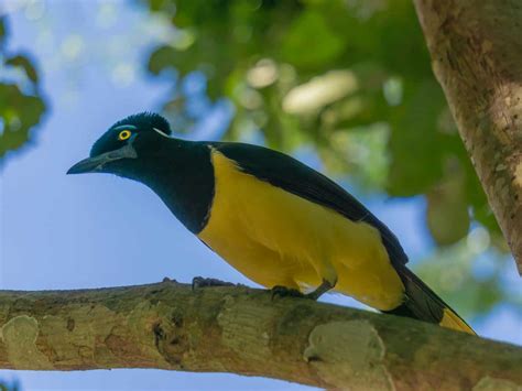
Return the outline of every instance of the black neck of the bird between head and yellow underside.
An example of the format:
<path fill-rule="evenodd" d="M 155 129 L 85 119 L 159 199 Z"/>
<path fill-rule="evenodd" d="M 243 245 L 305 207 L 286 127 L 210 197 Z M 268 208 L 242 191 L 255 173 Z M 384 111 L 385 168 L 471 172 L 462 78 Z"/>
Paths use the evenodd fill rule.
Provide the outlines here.
<path fill-rule="evenodd" d="M 188 230 L 203 230 L 214 197 L 208 145 L 168 140 L 135 174 L 133 178 L 152 188 Z"/>

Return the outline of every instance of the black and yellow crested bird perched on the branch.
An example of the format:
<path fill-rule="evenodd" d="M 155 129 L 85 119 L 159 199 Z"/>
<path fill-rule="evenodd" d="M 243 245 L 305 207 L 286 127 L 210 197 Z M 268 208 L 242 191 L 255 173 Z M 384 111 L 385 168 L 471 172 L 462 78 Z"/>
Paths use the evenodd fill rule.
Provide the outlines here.
<path fill-rule="evenodd" d="M 406 265 L 396 236 L 359 200 L 296 159 L 240 142 L 175 138 L 153 112 L 112 124 L 67 174 L 149 186 L 200 241 L 281 295 L 326 292 L 382 313 L 475 334 Z"/>

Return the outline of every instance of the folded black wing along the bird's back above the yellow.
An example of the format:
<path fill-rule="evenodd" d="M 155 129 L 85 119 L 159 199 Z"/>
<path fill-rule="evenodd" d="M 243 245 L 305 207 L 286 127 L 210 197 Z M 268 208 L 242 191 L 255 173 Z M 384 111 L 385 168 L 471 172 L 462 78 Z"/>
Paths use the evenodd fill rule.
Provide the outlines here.
<path fill-rule="evenodd" d="M 211 143 L 213 148 L 238 163 L 246 173 L 273 186 L 336 210 L 354 221 L 365 221 L 381 233 L 392 264 L 405 264 L 407 256 L 393 232 L 352 195 L 325 175 L 281 152 L 243 143 Z"/>

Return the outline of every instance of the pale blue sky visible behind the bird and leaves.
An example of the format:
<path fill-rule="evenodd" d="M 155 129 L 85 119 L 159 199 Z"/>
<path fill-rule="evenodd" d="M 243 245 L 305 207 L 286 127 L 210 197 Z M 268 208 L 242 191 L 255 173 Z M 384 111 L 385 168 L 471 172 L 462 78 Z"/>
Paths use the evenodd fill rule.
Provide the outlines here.
<path fill-rule="evenodd" d="M 253 285 L 200 245 L 146 187 L 109 175 L 65 175 L 112 122 L 157 109 L 170 93 L 172 85 L 148 77 L 142 68 L 153 43 L 168 39 L 166 24 L 135 3 L 51 1 L 43 8 L 17 8 L 10 28 L 9 47 L 34 55 L 51 110 L 34 130 L 33 145 L 9 156 L 1 172 L 0 287 L 132 285 L 164 276 L 189 282 L 202 274 Z M 197 85 L 196 79 L 185 88 L 197 95 Z M 194 105 L 205 119 L 192 137 L 219 134 L 227 106 Z M 431 250 L 421 198 L 384 202 L 376 196 L 366 204 L 412 258 Z M 340 296 L 327 300 L 355 305 Z M 481 335 L 520 344 L 520 315 L 499 306 L 471 323 Z M 13 377 L 26 390 L 306 389 L 268 379 L 159 370 L 0 371 L 0 378 Z"/>

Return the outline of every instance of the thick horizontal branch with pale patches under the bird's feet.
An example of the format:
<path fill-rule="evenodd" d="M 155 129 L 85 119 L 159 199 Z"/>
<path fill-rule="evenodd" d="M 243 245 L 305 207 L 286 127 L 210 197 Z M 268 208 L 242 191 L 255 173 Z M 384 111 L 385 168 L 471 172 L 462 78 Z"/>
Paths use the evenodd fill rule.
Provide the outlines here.
<path fill-rule="evenodd" d="M 244 286 L 0 292 L 0 368 L 161 368 L 328 389 L 522 387 L 522 349 Z"/>

